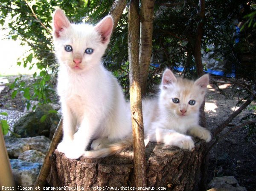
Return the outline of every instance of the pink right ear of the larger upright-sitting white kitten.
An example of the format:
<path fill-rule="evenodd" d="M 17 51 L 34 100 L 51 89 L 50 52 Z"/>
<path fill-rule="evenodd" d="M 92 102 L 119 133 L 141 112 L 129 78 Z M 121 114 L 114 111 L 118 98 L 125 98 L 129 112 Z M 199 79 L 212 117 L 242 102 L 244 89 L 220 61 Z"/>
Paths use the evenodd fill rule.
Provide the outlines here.
<path fill-rule="evenodd" d="M 96 31 L 99 32 L 101 35 L 102 43 L 109 43 L 110 41 L 110 36 L 113 30 L 113 18 L 111 15 L 108 15 L 104 17 L 96 26 L 95 29 Z"/>

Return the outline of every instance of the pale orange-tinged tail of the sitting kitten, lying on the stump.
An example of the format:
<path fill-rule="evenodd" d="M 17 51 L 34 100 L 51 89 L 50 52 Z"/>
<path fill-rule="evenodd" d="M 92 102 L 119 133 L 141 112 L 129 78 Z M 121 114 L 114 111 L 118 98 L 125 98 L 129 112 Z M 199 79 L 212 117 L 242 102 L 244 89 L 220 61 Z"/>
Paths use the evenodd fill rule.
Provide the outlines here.
<path fill-rule="evenodd" d="M 132 144 L 132 139 L 125 139 L 116 143 L 111 143 L 107 148 L 100 148 L 99 150 L 94 151 L 84 151 L 83 156 L 87 158 L 108 157 L 124 151 L 125 149 L 131 147 Z"/>

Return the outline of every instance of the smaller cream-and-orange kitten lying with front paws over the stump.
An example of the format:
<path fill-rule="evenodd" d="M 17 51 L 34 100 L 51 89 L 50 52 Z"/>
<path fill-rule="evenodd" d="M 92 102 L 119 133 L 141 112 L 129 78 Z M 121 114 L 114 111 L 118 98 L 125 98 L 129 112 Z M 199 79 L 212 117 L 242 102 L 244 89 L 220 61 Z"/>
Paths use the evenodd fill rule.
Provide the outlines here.
<path fill-rule="evenodd" d="M 160 86 L 160 94 L 152 100 L 143 100 L 145 135 L 149 141 L 175 145 L 191 150 L 194 137 L 209 142 L 211 134 L 199 125 L 199 109 L 204 101 L 209 75 L 195 82 L 176 78 L 166 69 Z"/>

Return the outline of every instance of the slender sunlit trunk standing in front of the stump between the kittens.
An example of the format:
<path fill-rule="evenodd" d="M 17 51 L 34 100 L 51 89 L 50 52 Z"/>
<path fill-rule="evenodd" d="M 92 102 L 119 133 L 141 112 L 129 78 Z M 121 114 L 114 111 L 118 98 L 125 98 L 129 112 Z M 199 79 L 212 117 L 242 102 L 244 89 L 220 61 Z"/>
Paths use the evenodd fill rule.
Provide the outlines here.
<path fill-rule="evenodd" d="M 130 0 L 128 13 L 128 55 L 134 143 L 134 172 L 137 188 L 146 186 L 145 145 L 140 87 L 139 27 L 139 0 Z"/>

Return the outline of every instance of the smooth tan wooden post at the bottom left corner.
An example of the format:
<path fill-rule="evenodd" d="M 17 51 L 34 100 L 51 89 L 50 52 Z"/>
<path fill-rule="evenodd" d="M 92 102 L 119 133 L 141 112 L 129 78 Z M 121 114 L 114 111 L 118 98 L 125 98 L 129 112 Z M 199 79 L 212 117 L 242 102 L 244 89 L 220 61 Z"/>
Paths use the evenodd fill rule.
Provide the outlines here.
<path fill-rule="evenodd" d="M 3 138 L 2 126 L 0 124 L 0 190 L 16 190 L 12 176 L 12 168 L 9 161 L 6 145 Z"/>

